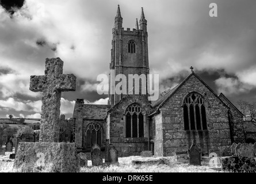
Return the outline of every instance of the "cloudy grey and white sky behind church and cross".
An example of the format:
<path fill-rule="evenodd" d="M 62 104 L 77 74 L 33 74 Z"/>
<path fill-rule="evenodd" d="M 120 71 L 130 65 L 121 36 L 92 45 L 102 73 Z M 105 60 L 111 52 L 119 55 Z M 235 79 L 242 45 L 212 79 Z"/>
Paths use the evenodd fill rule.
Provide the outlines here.
<path fill-rule="evenodd" d="M 0 6 L 0 118 L 40 117 L 41 93 L 29 91 L 29 79 L 44 75 L 47 57 L 60 57 L 64 74 L 77 76 L 77 91 L 62 93 L 67 118 L 77 98 L 105 104 L 97 75 L 108 74 L 117 5 L 125 29 L 135 28 L 144 7 L 150 72 L 159 74 L 160 91 L 181 82 L 193 66 L 217 94 L 234 103 L 256 101 L 255 0 L 10 2 Z M 210 3 L 217 4 L 217 17 L 209 16 Z"/>

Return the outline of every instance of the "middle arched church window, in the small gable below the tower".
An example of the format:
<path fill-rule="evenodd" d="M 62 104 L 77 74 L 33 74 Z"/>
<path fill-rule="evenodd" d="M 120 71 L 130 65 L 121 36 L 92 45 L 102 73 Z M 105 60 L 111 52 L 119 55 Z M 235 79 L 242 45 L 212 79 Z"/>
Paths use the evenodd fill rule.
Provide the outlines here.
<path fill-rule="evenodd" d="M 128 106 L 125 111 L 126 137 L 144 137 L 144 112 L 137 104 Z"/>

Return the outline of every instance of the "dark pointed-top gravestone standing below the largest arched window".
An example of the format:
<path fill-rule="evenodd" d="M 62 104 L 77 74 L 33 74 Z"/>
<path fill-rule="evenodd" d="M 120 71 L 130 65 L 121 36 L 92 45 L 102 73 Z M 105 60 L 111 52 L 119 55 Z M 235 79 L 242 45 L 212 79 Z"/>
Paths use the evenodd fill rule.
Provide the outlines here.
<path fill-rule="evenodd" d="M 193 140 L 193 144 L 189 149 L 189 164 L 194 166 L 201 166 L 201 151 L 196 144 L 196 140 Z"/>

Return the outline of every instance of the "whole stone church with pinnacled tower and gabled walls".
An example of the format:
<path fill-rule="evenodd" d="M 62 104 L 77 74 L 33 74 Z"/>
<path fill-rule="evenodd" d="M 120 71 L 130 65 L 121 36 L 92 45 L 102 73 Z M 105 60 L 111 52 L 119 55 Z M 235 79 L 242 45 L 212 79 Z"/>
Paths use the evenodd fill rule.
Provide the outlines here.
<path fill-rule="evenodd" d="M 149 74 L 143 8 L 135 28 L 124 30 L 122 24 L 118 6 L 112 29 L 110 75 Z M 77 99 L 70 121 L 78 149 L 90 150 L 97 143 L 104 150 L 109 141 L 119 156 L 140 155 L 147 150 L 156 156 L 171 156 L 174 152 L 186 153 L 193 140 L 205 154 L 244 142 L 243 114 L 191 70 L 183 82 L 164 91 L 156 101 L 149 101 L 147 94 L 117 93 L 109 94 L 108 105 L 84 104 L 84 99 Z M 110 78 L 109 90 L 116 84 Z"/>

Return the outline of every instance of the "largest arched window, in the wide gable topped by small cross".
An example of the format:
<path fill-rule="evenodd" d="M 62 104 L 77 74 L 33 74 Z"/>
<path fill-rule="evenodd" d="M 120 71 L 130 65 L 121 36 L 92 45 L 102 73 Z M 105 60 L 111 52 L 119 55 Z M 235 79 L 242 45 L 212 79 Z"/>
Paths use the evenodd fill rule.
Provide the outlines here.
<path fill-rule="evenodd" d="M 207 129 L 205 104 L 202 95 L 195 92 L 188 94 L 184 99 L 183 112 L 185 131 Z"/>

